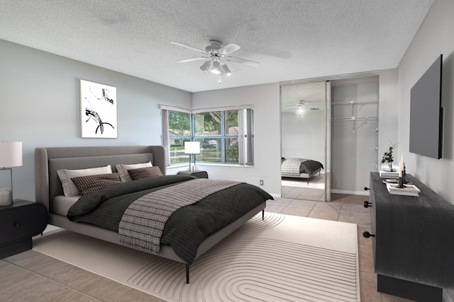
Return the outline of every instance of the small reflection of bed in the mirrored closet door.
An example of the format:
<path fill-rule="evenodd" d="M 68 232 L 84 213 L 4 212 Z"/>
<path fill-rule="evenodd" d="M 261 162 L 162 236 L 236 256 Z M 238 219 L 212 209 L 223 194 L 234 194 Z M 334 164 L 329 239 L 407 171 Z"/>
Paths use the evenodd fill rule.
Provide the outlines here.
<path fill-rule="evenodd" d="M 281 160 L 282 178 L 311 179 L 317 173 L 320 175 L 323 165 L 319 161 L 306 158 L 284 158 Z"/>

